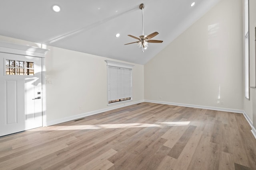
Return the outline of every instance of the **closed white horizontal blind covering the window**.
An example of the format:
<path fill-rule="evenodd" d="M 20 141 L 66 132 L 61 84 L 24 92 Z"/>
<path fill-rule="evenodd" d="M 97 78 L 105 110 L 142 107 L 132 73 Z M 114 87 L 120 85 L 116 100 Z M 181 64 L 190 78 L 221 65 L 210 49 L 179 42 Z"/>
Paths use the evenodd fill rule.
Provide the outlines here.
<path fill-rule="evenodd" d="M 108 66 L 108 101 L 132 97 L 132 69 Z"/>

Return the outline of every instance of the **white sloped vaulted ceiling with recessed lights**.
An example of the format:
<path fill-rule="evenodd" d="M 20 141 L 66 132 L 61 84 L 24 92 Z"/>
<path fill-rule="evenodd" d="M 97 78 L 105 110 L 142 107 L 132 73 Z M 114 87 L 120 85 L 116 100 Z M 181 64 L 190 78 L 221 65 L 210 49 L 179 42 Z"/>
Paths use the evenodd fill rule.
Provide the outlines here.
<path fill-rule="evenodd" d="M 145 64 L 220 0 L 1 0 L 0 35 Z M 196 2 L 194 7 L 190 7 Z M 142 53 L 137 41 L 158 31 Z M 60 12 L 52 5 L 58 4 Z M 120 37 L 116 38 L 116 33 Z M 70 56 L 72 57 L 72 56 Z"/>

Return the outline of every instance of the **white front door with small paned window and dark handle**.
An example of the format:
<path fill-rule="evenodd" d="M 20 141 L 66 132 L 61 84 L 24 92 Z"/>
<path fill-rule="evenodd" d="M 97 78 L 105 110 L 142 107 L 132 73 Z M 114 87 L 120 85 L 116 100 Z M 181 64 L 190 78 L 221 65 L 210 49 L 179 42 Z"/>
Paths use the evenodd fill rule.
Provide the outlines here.
<path fill-rule="evenodd" d="M 42 58 L 0 53 L 0 136 L 42 126 Z"/>

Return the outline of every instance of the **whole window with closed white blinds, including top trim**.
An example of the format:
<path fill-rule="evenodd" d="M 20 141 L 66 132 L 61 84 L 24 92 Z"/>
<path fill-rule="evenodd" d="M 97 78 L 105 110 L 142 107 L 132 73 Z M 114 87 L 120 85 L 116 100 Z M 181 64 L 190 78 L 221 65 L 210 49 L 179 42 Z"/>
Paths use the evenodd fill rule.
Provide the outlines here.
<path fill-rule="evenodd" d="M 108 104 L 132 99 L 131 64 L 108 61 Z"/>

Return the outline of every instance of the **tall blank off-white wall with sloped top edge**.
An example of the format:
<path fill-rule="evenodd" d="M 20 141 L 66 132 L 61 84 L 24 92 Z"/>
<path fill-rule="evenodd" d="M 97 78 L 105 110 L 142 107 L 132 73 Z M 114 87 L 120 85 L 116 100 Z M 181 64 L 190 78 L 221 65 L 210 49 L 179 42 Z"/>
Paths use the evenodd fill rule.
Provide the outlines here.
<path fill-rule="evenodd" d="M 145 64 L 145 100 L 242 110 L 242 41 L 242 1 L 222 0 Z"/>

